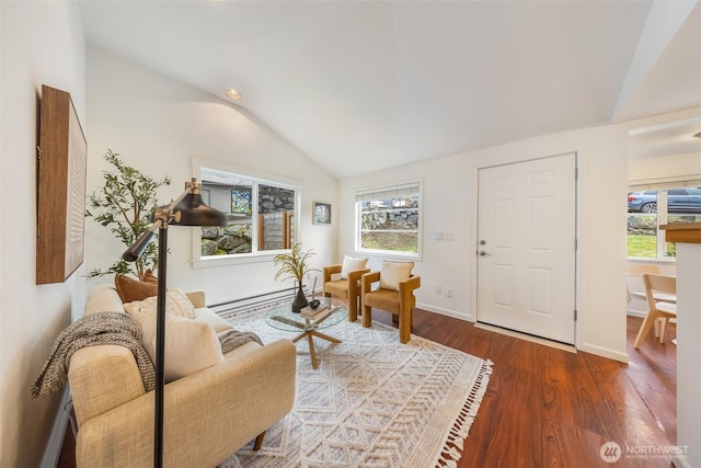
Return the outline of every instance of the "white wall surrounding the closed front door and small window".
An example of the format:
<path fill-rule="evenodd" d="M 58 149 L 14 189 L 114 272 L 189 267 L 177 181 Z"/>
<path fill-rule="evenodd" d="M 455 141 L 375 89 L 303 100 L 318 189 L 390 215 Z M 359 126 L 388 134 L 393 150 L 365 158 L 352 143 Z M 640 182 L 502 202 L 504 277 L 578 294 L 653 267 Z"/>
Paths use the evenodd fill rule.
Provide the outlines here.
<path fill-rule="evenodd" d="M 478 170 L 576 151 L 578 182 L 577 321 L 576 345 L 614 359 L 628 361 L 625 351 L 625 243 L 628 190 L 628 133 L 632 128 L 681 121 L 700 109 L 617 125 L 516 141 L 483 150 L 452 155 L 401 169 L 374 172 L 341 181 L 338 255 L 354 251 L 355 191 L 414 178 L 424 180 L 423 259 L 415 272 L 421 307 L 474 321 L 476 319 Z M 455 231 L 455 241 L 437 241 L 434 232 Z M 380 258 L 370 261 L 379 267 Z M 453 289 L 453 297 L 434 293 L 435 286 Z"/>

